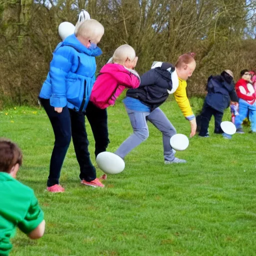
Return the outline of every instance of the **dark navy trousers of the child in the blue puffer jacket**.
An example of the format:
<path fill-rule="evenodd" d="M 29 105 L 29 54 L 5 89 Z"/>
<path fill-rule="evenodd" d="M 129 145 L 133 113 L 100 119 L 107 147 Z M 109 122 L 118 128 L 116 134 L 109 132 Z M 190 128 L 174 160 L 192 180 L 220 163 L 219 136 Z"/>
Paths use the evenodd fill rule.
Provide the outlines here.
<path fill-rule="evenodd" d="M 45 109 L 55 136 L 54 147 L 50 158 L 50 170 L 47 186 L 58 184 L 60 170 L 69 146 L 71 136 L 73 139 L 76 159 L 80 166 L 80 179 L 91 181 L 96 178 L 95 167 L 90 161 L 88 151 L 89 141 L 85 130 L 85 117 L 81 112 L 63 107 L 61 113 L 54 111 L 49 99 L 39 98 Z"/>

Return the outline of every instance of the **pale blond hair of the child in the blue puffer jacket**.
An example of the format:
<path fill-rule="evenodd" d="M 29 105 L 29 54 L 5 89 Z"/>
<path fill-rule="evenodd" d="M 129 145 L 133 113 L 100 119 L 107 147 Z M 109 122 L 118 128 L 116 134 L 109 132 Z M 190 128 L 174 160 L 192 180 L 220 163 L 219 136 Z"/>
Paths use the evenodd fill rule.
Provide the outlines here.
<path fill-rule="evenodd" d="M 75 27 L 74 34 L 93 41 L 98 36 L 102 36 L 104 34 L 104 27 L 95 19 L 87 19 L 83 20 Z"/>

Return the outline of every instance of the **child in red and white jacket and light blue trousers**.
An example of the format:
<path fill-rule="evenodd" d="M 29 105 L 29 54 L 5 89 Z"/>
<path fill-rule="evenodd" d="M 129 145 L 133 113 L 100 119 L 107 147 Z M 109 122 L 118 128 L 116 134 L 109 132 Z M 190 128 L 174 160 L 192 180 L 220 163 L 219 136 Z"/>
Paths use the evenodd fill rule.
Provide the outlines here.
<path fill-rule="evenodd" d="M 249 116 L 251 131 L 256 132 L 256 93 L 248 69 L 240 72 L 241 78 L 235 84 L 236 94 L 239 98 L 239 115 L 235 116 L 234 124 L 237 133 L 244 133 L 242 121 Z"/>

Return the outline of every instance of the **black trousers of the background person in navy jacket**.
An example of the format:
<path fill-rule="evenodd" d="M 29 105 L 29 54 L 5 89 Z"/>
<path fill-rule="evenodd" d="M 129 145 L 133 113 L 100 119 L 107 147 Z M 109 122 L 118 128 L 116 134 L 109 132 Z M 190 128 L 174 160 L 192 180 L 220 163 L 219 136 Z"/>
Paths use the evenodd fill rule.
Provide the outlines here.
<path fill-rule="evenodd" d="M 208 104 L 204 103 L 201 114 L 196 117 L 198 123 L 200 123 L 200 131 L 199 136 L 206 136 L 208 134 L 209 121 L 211 116 L 214 116 L 215 121 L 215 133 L 222 133 L 223 130 L 220 127 L 220 123 L 222 121 L 223 112 L 220 112 Z"/>

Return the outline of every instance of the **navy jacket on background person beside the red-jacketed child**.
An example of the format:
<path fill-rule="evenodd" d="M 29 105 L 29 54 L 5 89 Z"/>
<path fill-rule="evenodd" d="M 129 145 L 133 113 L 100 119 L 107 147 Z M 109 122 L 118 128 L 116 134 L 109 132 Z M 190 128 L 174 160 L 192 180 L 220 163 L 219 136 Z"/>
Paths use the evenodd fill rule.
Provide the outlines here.
<path fill-rule="evenodd" d="M 219 112 L 224 112 L 230 100 L 238 102 L 233 81 L 228 83 L 222 75 L 209 76 L 207 91 L 205 103 Z"/>

